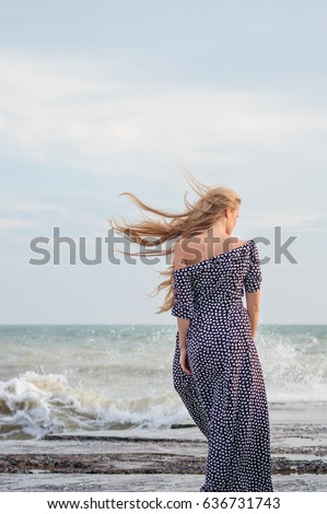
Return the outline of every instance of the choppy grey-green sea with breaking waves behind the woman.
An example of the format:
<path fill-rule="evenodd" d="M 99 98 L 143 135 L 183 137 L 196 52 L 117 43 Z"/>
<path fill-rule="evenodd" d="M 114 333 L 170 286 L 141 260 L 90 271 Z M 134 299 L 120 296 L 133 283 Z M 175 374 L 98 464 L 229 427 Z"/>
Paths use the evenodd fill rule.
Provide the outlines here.
<path fill-rule="evenodd" d="M 191 419 L 174 389 L 172 325 L 1 325 L 0 439 L 132 430 Z M 327 325 L 260 325 L 255 343 L 278 422 L 327 422 Z"/>

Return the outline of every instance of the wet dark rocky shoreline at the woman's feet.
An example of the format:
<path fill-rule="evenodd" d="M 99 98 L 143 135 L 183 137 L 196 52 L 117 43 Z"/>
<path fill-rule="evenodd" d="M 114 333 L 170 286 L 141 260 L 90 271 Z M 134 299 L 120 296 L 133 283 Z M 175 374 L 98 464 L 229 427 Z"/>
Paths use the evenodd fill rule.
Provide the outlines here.
<path fill-rule="evenodd" d="M 0 491 L 198 491 L 208 444 L 197 427 L 179 427 L 160 435 L 120 430 L 2 441 Z M 273 423 L 275 488 L 327 491 L 326 443 L 325 424 Z"/>

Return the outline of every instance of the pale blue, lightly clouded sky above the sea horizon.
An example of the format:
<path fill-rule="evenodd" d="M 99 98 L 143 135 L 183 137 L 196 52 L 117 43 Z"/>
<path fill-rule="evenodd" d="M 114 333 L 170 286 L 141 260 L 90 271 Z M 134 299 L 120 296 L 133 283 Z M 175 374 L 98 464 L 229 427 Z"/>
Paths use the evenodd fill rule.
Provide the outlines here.
<path fill-rule="evenodd" d="M 326 14 L 317 0 L 1 2 L 0 324 L 175 323 L 156 314 L 164 258 L 131 265 L 117 243 L 113 264 L 105 237 L 108 219 L 142 215 L 124 191 L 174 212 L 185 190 L 196 200 L 186 168 L 240 192 L 235 236 L 270 243 L 260 323 L 326 324 Z M 68 243 L 55 264 L 56 230 L 75 264 Z M 295 262 L 277 261 L 278 234 Z"/>

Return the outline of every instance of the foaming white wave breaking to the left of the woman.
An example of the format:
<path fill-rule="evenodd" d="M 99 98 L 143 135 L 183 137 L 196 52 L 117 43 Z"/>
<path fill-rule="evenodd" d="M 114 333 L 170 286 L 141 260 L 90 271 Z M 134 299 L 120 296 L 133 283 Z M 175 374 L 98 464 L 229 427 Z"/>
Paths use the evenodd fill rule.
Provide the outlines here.
<path fill-rule="evenodd" d="M 1 439 L 40 439 L 77 430 L 168 428 L 185 420 L 185 410 L 174 394 L 107 399 L 62 375 L 27 372 L 0 382 L 0 419 Z"/>

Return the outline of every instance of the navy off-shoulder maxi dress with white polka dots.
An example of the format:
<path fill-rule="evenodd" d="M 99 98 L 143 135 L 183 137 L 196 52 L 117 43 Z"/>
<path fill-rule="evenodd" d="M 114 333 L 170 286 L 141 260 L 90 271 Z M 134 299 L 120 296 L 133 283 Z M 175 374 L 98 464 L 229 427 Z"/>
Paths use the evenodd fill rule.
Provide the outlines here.
<path fill-rule="evenodd" d="M 191 375 L 179 364 L 178 330 L 173 383 L 208 440 L 200 491 L 272 491 L 266 388 L 243 304 L 244 290 L 260 289 L 254 240 L 173 272 L 172 314 L 190 319 L 186 351 Z"/>

